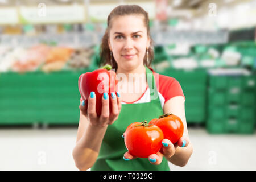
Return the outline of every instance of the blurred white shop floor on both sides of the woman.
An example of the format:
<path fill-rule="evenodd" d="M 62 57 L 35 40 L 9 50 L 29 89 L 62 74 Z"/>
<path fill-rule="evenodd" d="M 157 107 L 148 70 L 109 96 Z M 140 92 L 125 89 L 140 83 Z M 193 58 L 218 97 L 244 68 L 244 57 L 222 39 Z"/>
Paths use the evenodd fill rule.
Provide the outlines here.
<path fill-rule="evenodd" d="M 188 128 L 194 152 L 185 167 L 171 170 L 256 170 L 253 135 L 211 135 Z M 0 170 L 77 170 L 72 158 L 76 128 L 0 129 Z"/>

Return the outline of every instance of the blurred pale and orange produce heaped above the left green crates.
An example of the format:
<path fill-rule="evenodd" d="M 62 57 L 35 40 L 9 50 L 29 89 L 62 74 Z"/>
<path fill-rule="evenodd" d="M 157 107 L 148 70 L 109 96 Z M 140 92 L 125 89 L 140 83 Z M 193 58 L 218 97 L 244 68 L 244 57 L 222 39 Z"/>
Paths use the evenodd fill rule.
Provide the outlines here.
<path fill-rule="evenodd" d="M 0 72 L 53 72 L 86 69 L 92 62 L 93 48 L 72 48 L 36 44 L 31 47 L 0 46 Z"/>

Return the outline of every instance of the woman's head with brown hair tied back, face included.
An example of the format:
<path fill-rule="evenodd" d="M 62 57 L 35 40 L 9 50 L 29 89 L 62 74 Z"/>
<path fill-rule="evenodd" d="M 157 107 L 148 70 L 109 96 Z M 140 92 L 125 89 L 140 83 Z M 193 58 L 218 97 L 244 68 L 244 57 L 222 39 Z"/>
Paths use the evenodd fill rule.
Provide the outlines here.
<path fill-rule="evenodd" d="M 153 57 L 148 13 L 137 5 L 116 7 L 108 16 L 108 27 L 102 38 L 101 64 L 110 64 L 117 71 L 117 61 L 122 58 L 137 60 L 135 63 L 133 61 L 134 67 L 138 64 L 148 67 Z M 138 60 L 143 61 L 139 63 Z M 126 69 L 131 66 L 124 64 Z"/>

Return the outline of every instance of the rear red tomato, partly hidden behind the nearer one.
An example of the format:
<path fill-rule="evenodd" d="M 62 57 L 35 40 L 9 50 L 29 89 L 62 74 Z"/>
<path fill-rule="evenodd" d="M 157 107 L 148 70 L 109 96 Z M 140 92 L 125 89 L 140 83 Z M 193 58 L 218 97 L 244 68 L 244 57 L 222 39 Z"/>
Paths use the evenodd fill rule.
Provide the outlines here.
<path fill-rule="evenodd" d="M 154 124 L 163 131 L 164 138 L 167 138 L 172 143 L 176 143 L 183 135 L 183 122 L 177 115 L 164 114 L 159 119 L 152 119 L 150 124 Z"/>

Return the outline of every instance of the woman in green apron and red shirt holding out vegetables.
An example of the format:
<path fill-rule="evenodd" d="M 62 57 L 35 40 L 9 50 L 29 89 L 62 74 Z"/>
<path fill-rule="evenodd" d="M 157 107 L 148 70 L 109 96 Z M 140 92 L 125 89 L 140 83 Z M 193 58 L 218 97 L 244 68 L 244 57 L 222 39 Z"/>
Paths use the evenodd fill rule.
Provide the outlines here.
<path fill-rule="evenodd" d="M 121 5 L 109 14 L 108 27 L 102 38 L 101 57 L 105 59 L 104 64 L 112 65 L 117 75 L 129 78 L 130 75 L 139 74 L 140 79 L 118 80 L 117 97 L 112 93 L 110 98 L 108 94 L 101 98 L 100 117 L 96 114 L 96 97 L 93 92 L 88 104 L 80 100 L 79 129 L 73 150 L 77 168 L 170 170 L 168 161 L 185 166 L 193 151 L 185 118 L 185 97 L 177 80 L 158 75 L 152 68 L 148 68 L 154 51 L 146 11 L 137 5 Z M 147 82 L 148 80 L 152 82 Z M 143 92 L 131 92 L 138 87 Z M 109 102 L 113 106 L 110 114 Z M 148 159 L 129 154 L 122 135 L 126 127 L 130 123 L 150 121 L 166 113 L 175 114 L 183 121 L 184 134 L 177 144 L 163 139 L 163 154 L 158 152 Z"/>

